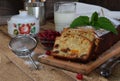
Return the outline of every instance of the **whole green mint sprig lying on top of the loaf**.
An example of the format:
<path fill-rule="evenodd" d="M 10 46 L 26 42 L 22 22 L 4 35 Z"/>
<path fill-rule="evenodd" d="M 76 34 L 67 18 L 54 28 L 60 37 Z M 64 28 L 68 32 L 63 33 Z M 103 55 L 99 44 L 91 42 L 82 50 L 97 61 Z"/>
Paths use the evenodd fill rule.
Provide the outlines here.
<path fill-rule="evenodd" d="M 105 29 L 118 34 L 112 22 L 106 17 L 99 17 L 97 12 L 92 14 L 91 19 L 88 16 L 79 16 L 70 24 L 70 28 L 76 28 L 78 26 L 92 26 L 96 30 Z"/>

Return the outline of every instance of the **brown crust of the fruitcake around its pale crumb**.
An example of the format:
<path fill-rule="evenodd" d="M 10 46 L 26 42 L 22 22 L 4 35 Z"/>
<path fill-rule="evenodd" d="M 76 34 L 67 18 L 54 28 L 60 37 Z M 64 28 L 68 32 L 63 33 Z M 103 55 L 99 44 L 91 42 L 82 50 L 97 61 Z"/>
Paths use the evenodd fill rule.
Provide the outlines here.
<path fill-rule="evenodd" d="M 71 31 L 71 29 L 69 29 L 69 28 L 64 29 L 61 37 L 56 38 L 56 40 L 61 40 L 61 38 L 68 37 L 68 36 L 71 36 L 71 34 L 73 35 L 76 33 L 76 32 L 75 33 L 72 32 L 72 31 L 71 31 L 72 33 L 68 33 L 69 30 Z M 73 30 L 77 31 L 79 29 L 73 29 Z M 70 60 L 70 61 L 77 61 L 77 62 L 88 62 L 92 59 L 96 59 L 100 54 L 102 54 L 104 51 L 109 49 L 113 44 L 115 44 L 117 41 L 120 40 L 120 26 L 117 27 L 117 30 L 118 30 L 118 35 L 115 35 L 115 34 L 109 32 L 107 34 L 100 36 L 99 38 L 92 36 L 93 39 L 91 39 L 91 37 L 89 38 L 89 35 L 96 35 L 96 34 L 94 32 L 91 32 L 91 30 L 90 30 L 91 33 L 88 36 L 86 36 L 86 34 L 79 33 L 80 37 L 82 37 L 83 39 L 85 39 L 87 41 L 89 40 L 90 46 L 91 46 L 89 48 L 89 51 L 87 52 L 87 54 L 83 54 L 80 57 L 77 57 L 77 54 L 71 54 L 71 55 L 67 56 L 67 53 L 66 53 L 66 56 L 64 56 L 62 54 L 59 54 L 59 51 L 54 51 L 54 50 L 52 51 L 52 56 L 54 56 L 55 58 L 62 59 L 62 60 Z M 81 32 L 87 31 L 88 32 L 89 30 L 83 31 L 80 29 L 79 31 L 81 31 Z M 77 33 L 77 35 L 78 35 L 78 33 Z M 54 48 L 55 47 L 59 47 L 59 45 L 56 45 L 56 43 L 55 43 Z M 64 52 L 67 52 L 69 50 L 70 49 L 68 49 L 68 48 L 62 49 L 62 51 L 64 51 Z M 74 52 L 77 53 L 77 51 L 74 51 Z"/>

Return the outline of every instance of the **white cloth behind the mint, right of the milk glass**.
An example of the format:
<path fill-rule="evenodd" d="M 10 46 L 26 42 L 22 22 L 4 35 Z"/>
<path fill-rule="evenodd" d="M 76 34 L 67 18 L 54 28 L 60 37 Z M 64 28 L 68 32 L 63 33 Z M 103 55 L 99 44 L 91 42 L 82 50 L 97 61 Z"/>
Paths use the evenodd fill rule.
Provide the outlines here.
<path fill-rule="evenodd" d="M 120 11 L 110 11 L 109 9 L 101 6 L 76 2 L 76 17 L 91 17 L 92 13 L 94 13 L 95 11 L 99 14 L 99 16 L 107 17 L 114 25 L 120 25 L 120 21 L 117 20 L 120 19 Z"/>

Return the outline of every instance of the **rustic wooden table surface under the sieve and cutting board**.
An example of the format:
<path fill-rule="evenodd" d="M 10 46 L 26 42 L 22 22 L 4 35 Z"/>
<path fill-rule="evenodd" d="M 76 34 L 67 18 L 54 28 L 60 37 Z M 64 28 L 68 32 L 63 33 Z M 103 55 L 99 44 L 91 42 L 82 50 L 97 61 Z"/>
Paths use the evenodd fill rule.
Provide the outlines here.
<path fill-rule="evenodd" d="M 48 22 L 42 29 L 53 29 L 54 24 Z M 10 37 L 7 33 L 7 25 L 0 26 L 0 81 L 76 81 L 76 74 L 49 65 L 42 64 L 41 70 L 33 70 L 25 60 L 18 58 L 9 48 Z M 45 50 L 39 44 L 35 49 L 36 57 L 44 53 Z M 119 72 L 120 73 L 120 72 Z M 117 76 L 105 79 L 96 72 L 84 75 L 83 81 L 118 81 L 114 80 Z M 119 78 L 120 79 L 120 78 Z"/>

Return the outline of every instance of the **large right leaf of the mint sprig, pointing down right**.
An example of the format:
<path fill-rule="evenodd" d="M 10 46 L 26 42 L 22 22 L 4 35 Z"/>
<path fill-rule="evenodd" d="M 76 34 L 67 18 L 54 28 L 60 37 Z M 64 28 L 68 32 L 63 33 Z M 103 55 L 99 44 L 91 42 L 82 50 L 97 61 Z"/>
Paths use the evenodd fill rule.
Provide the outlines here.
<path fill-rule="evenodd" d="M 117 30 L 115 29 L 114 25 L 111 23 L 111 21 L 105 17 L 99 17 L 97 21 L 97 26 L 100 28 L 103 28 L 105 30 L 111 31 L 115 34 L 118 34 Z"/>

